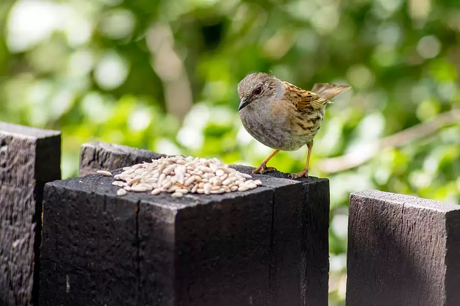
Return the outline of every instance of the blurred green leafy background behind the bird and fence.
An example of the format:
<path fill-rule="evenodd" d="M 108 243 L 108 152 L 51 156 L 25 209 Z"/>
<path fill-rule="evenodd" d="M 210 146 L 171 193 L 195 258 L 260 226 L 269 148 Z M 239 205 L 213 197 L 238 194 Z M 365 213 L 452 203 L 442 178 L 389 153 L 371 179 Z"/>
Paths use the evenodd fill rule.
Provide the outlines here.
<path fill-rule="evenodd" d="M 247 73 L 353 86 L 311 160 L 331 185 L 330 305 L 344 304 L 350 192 L 460 202 L 459 69 L 457 0 L 0 2 L 0 120 L 61 130 L 64 178 L 93 140 L 257 165 L 270 149 L 238 116 Z"/>

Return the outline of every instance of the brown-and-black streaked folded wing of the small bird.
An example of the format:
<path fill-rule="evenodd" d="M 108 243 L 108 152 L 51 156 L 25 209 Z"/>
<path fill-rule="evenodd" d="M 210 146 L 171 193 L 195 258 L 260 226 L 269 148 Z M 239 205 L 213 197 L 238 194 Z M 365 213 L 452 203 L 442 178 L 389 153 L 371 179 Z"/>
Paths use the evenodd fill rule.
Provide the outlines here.
<path fill-rule="evenodd" d="M 331 103 L 314 92 L 303 90 L 287 82 L 284 100 L 292 103 L 300 113 L 309 113 Z"/>

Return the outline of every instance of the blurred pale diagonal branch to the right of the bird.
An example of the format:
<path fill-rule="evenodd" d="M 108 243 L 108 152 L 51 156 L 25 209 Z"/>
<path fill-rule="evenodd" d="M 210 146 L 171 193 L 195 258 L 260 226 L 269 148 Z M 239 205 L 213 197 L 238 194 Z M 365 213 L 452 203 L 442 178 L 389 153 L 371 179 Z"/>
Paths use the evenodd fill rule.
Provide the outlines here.
<path fill-rule="evenodd" d="M 318 168 L 325 173 L 336 173 L 358 167 L 374 158 L 380 151 L 387 148 L 401 147 L 407 143 L 426 137 L 441 127 L 460 122 L 460 109 L 442 113 L 428 122 L 419 123 L 394 135 L 365 145 L 347 155 L 324 159 L 318 162 Z"/>

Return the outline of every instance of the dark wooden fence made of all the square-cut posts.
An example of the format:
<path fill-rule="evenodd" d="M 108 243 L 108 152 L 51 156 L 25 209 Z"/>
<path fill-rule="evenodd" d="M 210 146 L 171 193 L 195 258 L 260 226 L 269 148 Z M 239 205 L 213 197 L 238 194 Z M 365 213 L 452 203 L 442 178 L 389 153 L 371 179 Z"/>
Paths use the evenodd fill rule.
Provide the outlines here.
<path fill-rule="evenodd" d="M 160 156 L 87 143 L 59 181 L 59 132 L 0 123 L 0 306 L 328 304 L 328 180 L 173 199 L 91 174 Z M 347 266 L 347 305 L 460 305 L 460 206 L 352 194 Z"/>

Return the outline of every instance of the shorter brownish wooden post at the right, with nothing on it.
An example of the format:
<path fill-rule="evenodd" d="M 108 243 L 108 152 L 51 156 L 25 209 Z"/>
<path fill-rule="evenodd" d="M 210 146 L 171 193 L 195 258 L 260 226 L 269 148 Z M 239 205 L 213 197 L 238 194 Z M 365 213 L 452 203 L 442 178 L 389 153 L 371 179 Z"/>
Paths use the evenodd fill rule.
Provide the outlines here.
<path fill-rule="evenodd" d="M 348 231 L 348 306 L 460 305 L 460 206 L 354 193 Z"/>

